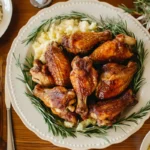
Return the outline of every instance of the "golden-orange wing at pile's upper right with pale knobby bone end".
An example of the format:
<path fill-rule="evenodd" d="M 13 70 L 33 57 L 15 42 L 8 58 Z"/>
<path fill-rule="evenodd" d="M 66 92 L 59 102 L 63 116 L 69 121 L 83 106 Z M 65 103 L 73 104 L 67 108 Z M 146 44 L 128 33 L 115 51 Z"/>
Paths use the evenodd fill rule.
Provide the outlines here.
<path fill-rule="evenodd" d="M 127 44 L 135 43 L 134 38 L 119 34 L 114 40 L 107 41 L 95 49 L 90 58 L 94 62 L 123 61 L 133 56 Z"/>

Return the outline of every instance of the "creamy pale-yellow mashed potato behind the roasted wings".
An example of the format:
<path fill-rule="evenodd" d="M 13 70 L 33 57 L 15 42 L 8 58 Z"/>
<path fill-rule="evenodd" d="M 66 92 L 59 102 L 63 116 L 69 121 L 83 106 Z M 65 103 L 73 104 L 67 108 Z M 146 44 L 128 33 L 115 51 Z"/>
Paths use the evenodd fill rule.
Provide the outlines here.
<path fill-rule="evenodd" d="M 61 43 L 63 35 L 71 35 L 77 31 L 86 32 L 97 29 L 97 24 L 87 21 L 78 21 L 74 19 L 63 20 L 60 24 L 54 23 L 51 25 L 48 32 L 41 32 L 32 47 L 35 52 L 35 59 L 40 59 L 45 63 L 44 54 L 48 43 L 56 41 Z"/>

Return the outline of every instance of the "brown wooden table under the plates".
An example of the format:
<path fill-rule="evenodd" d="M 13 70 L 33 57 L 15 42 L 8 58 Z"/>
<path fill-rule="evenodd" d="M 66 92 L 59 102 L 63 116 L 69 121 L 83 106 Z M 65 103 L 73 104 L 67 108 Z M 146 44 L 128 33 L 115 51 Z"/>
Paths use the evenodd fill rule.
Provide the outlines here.
<path fill-rule="evenodd" d="M 6 108 L 4 102 L 4 77 L 5 77 L 5 65 L 6 57 L 11 46 L 12 41 L 17 36 L 20 28 L 26 24 L 28 19 L 35 15 L 39 9 L 30 5 L 29 0 L 12 0 L 13 1 L 13 16 L 11 24 L 0 39 L 0 150 L 5 149 L 6 145 Z M 53 0 L 56 3 L 61 0 Z M 62 0 L 67 1 L 67 0 Z M 131 0 L 105 0 L 106 2 L 118 6 L 121 3 L 126 4 L 128 7 L 132 7 Z M 58 148 L 49 142 L 39 139 L 34 133 L 28 130 L 21 122 L 18 115 L 12 109 L 14 138 L 16 144 L 16 150 L 65 150 L 64 148 Z M 138 150 L 141 142 L 150 130 L 150 120 L 146 121 L 144 126 L 130 138 L 124 142 L 116 145 L 112 145 L 107 150 Z M 4 141 L 4 142 L 2 142 Z"/>

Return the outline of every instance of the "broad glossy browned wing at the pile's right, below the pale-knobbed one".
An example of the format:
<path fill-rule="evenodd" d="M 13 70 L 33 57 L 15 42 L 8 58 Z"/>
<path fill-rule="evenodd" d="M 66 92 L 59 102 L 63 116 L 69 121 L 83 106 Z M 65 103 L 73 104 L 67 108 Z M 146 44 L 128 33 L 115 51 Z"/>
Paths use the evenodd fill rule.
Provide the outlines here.
<path fill-rule="evenodd" d="M 96 96 L 99 99 L 108 99 L 119 95 L 129 86 L 136 70 L 135 62 L 129 62 L 127 66 L 116 63 L 104 65 Z"/>

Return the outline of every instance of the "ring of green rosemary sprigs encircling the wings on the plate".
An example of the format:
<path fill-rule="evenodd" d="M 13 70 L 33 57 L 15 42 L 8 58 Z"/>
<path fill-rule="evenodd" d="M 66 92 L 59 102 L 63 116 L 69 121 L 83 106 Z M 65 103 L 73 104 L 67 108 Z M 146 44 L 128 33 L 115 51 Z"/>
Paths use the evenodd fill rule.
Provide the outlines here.
<path fill-rule="evenodd" d="M 50 24 L 53 22 L 60 22 L 63 19 L 80 19 L 80 20 L 86 20 L 88 22 L 97 22 L 98 24 L 98 30 L 104 31 L 104 30 L 111 30 L 113 33 L 113 36 L 116 36 L 117 34 L 123 33 L 132 37 L 135 37 L 134 34 L 127 29 L 127 23 L 122 21 L 121 18 L 118 20 L 115 19 L 103 19 L 101 18 L 99 21 L 95 19 L 94 17 L 91 17 L 84 13 L 79 12 L 72 12 L 69 15 L 61 15 L 57 16 L 55 18 L 45 20 L 41 26 L 36 28 L 34 32 L 32 32 L 27 39 L 24 41 L 26 44 L 29 44 L 31 41 L 34 41 L 42 30 L 45 30 L 50 27 Z M 136 73 L 133 82 L 131 84 L 131 87 L 136 94 L 140 87 L 143 84 L 144 79 L 142 78 L 142 74 L 144 71 L 144 60 L 147 55 L 147 51 L 144 49 L 144 44 L 142 41 L 137 41 L 136 46 L 133 48 L 134 52 L 137 54 L 137 63 L 138 63 L 138 72 Z M 123 130 L 123 126 L 130 126 L 128 122 L 134 122 L 138 124 L 138 120 L 142 119 L 145 115 L 147 115 L 148 111 L 150 111 L 150 102 L 147 103 L 147 105 L 143 108 L 141 108 L 138 112 L 131 114 L 128 117 L 123 117 L 117 120 L 116 123 L 114 123 L 112 126 L 89 126 L 84 128 L 82 131 L 76 131 L 76 128 L 66 128 L 63 125 L 63 120 L 57 116 L 55 116 L 49 108 L 47 108 L 44 103 L 37 97 L 33 95 L 33 89 L 35 86 L 35 83 L 32 81 L 31 76 L 29 74 L 29 70 L 33 66 L 33 56 L 27 57 L 25 60 L 25 64 L 21 64 L 20 62 L 20 56 L 18 59 L 15 57 L 16 65 L 20 68 L 22 75 L 18 79 L 26 84 L 28 88 L 28 92 L 26 92 L 26 96 L 29 97 L 31 102 L 34 104 L 34 106 L 37 108 L 37 110 L 42 114 L 42 116 L 45 119 L 45 122 L 48 124 L 49 131 L 53 133 L 55 136 L 62 136 L 63 138 L 66 137 L 76 137 L 76 133 L 83 134 L 85 136 L 91 137 L 91 136 L 99 136 L 105 140 L 107 139 L 107 134 L 110 129 L 117 130 L 118 128 Z M 108 141 L 109 142 L 109 141 Z"/>

